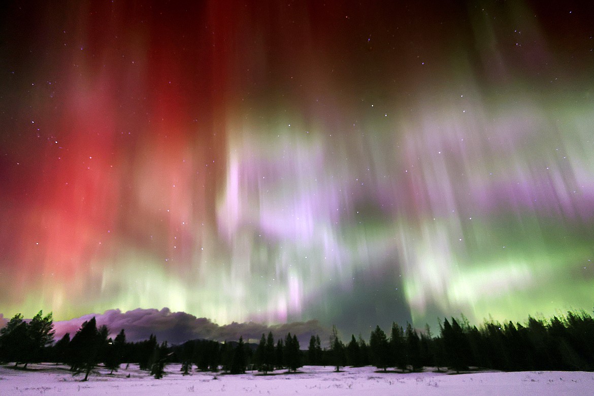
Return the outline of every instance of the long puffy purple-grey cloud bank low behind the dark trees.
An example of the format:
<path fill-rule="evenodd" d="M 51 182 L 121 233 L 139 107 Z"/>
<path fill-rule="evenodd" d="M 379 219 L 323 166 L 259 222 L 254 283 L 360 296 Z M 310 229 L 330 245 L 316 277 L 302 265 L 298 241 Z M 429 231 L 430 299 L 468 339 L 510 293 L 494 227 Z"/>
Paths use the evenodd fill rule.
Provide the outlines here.
<path fill-rule="evenodd" d="M 168 341 L 170 344 L 181 344 L 195 338 L 204 338 L 216 341 L 236 341 L 239 337 L 244 340 L 257 342 L 262 334 L 272 332 L 275 339 L 285 338 L 287 333 L 296 335 L 302 349 L 307 348 L 311 335 L 319 335 L 322 344 L 327 344 L 330 330 L 323 327 L 317 320 L 307 322 L 293 322 L 281 325 L 264 325 L 254 322 L 218 325 L 207 318 L 197 318 L 186 312 L 171 312 L 169 308 L 134 309 L 121 312 L 119 309 L 110 309 L 103 313 L 90 313 L 80 318 L 69 321 L 54 322 L 56 330 L 55 339 L 59 340 L 69 332 L 72 338 L 80 329 L 84 321 L 89 321 L 93 316 L 97 326 L 106 325 L 110 337 L 115 337 L 122 329 L 126 333 L 127 341 L 141 341 L 149 338 L 150 334 L 157 336 L 157 341 Z M 0 316 L 0 323 L 2 317 Z"/>

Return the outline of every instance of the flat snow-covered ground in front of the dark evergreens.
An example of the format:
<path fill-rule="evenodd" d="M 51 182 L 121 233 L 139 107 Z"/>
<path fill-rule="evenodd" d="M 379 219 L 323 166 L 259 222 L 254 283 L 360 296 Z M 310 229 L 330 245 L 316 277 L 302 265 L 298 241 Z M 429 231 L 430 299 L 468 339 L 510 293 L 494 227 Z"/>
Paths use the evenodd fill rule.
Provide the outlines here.
<path fill-rule="evenodd" d="M 376 372 L 373 367 L 305 366 L 300 373 L 222 375 L 192 372 L 182 376 L 179 365 L 166 367 L 163 379 L 154 379 L 138 366 L 109 375 L 99 368 L 81 382 L 65 366 L 29 365 L 30 370 L 0 366 L 0 395 L 592 395 L 593 372 L 473 372 L 448 375 Z M 124 367 L 122 365 L 122 367 Z M 128 377 L 129 375 L 129 377 Z"/>

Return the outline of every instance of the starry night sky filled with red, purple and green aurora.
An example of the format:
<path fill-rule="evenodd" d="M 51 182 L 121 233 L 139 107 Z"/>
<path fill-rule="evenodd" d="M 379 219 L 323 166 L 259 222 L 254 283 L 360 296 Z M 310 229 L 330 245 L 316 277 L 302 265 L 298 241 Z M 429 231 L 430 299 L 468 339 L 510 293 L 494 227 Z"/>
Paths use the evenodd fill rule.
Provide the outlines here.
<path fill-rule="evenodd" d="M 591 311 L 587 4 L 3 2 L 0 312 Z"/>

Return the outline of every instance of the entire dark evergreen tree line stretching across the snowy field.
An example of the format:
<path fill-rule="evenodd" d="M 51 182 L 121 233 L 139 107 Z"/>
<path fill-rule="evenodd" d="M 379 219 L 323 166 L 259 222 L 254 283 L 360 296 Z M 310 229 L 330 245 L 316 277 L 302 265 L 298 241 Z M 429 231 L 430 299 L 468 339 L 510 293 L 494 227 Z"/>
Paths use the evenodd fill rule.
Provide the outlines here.
<path fill-rule="evenodd" d="M 525 325 L 486 321 L 470 325 L 465 316 L 440 322 L 439 335 L 426 326 L 418 331 L 407 324 L 393 323 L 389 332 L 379 326 L 365 341 L 353 334 L 343 343 L 336 327 L 329 347 L 322 348 L 312 335 L 307 350 L 301 350 L 296 335 L 275 338 L 262 334 L 259 343 L 239 341 L 219 343 L 190 340 L 169 346 L 148 340 L 127 342 L 124 329 L 115 338 L 108 328 L 97 327 L 95 318 L 86 321 L 71 337 L 65 334 L 54 343 L 52 314 L 40 311 L 27 322 L 15 315 L 0 329 L 0 362 L 12 362 L 27 369 L 29 363 L 55 362 L 69 366 L 74 375 L 90 373 L 103 365 L 111 373 L 122 364 L 136 363 L 155 378 L 165 375 L 168 363 L 181 363 L 182 373 L 192 370 L 229 374 L 258 370 L 267 375 L 275 370 L 297 372 L 303 365 L 372 365 L 380 370 L 418 372 L 425 367 L 463 372 L 470 368 L 516 370 L 594 370 L 594 319 L 584 311 L 570 311 L 551 319 L 529 317 Z"/>

